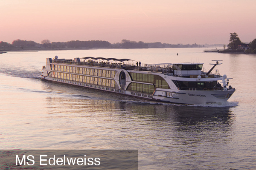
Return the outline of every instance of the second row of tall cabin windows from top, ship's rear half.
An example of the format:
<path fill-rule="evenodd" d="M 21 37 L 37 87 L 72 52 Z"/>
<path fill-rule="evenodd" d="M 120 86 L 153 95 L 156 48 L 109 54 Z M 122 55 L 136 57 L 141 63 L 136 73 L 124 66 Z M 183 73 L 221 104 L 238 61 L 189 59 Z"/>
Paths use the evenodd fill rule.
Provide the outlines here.
<path fill-rule="evenodd" d="M 94 85 L 102 85 L 115 88 L 116 81 L 111 79 L 104 79 L 98 77 L 90 77 L 90 76 L 81 76 L 77 74 L 68 74 L 68 73 L 59 73 L 52 71 L 49 76 L 59 78 L 59 79 L 67 79 L 76 82 L 85 82 Z"/>

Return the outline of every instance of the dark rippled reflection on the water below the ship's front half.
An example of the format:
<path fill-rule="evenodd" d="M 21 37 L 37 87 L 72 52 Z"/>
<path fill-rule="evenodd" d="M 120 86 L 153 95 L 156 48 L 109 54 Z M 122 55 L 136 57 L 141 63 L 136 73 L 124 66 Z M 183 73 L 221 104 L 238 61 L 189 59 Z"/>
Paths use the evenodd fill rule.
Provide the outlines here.
<path fill-rule="evenodd" d="M 199 147 L 215 142 L 223 145 L 232 139 L 234 115 L 229 107 L 192 107 L 182 105 L 125 105 L 140 119 L 137 128 L 151 136 L 159 148 L 176 148 L 180 154 L 184 147 Z M 138 121 L 137 119 L 137 121 Z M 201 145 L 204 146 L 201 146 Z M 171 152 L 171 151 L 170 151 Z M 191 153 L 197 151 L 189 151 Z"/>

